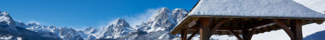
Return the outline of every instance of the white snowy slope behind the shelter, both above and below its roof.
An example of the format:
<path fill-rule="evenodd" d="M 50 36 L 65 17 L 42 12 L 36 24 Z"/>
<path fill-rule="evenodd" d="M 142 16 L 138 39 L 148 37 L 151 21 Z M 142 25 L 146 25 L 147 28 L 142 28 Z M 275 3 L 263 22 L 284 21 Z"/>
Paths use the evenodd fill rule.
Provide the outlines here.
<path fill-rule="evenodd" d="M 325 0 L 294 0 L 298 3 L 303 4 L 304 6 L 321 12 L 325 13 Z M 324 22 L 325 23 L 325 22 Z M 317 31 L 322 31 L 325 30 L 325 24 L 316 24 L 316 23 L 311 23 L 307 25 L 303 25 L 302 31 L 303 31 L 303 37 L 306 37 L 307 35 L 313 34 Z M 269 39 L 266 39 L 269 38 Z M 271 31 L 271 32 L 265 32 L 265 33 L 260 33 L 260 34 L 255 34 L 252 37 L 252 40 L 289 40 L 290 37 L 285 33 L 283 29 L 281 30 L 276 30 L 276 31 Z"/>

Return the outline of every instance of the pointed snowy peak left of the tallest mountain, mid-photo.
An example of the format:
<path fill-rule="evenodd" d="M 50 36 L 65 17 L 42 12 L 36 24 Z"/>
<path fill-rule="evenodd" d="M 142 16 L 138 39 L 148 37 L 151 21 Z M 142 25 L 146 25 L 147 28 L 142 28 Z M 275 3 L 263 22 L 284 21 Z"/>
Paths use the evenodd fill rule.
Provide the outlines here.
<path fill-rule="evenodd" d="M 106 29 L 96 33 L 96 38 L 118 38 L 135 31 L 125 19 L 118 19 L 116 23 L 107 26 Z"/>

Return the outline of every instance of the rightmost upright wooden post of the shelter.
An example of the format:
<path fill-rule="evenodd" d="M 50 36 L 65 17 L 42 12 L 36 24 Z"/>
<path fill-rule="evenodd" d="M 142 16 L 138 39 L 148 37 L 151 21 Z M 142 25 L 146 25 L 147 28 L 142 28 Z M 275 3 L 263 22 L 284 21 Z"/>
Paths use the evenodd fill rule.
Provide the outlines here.
<path fill-rule="evenodd" d="M 291 20 L 291 31 L 294 32 L 296 40 L 303 40 L 303 34 L 302 34 L 302 23 L 301 20 Z"/>

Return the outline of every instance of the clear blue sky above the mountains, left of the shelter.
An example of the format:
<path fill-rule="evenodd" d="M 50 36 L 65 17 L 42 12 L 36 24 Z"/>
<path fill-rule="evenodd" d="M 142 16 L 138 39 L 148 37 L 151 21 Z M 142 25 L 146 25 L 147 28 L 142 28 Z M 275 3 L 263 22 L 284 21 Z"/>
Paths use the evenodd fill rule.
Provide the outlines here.
<path fill-rule="evenodd" d="M 199 0 L 1 0 L 16 21 L 57 27 L 103 27 L 118 18 L 136 25 L 161 7 L 191 9 Z"/>

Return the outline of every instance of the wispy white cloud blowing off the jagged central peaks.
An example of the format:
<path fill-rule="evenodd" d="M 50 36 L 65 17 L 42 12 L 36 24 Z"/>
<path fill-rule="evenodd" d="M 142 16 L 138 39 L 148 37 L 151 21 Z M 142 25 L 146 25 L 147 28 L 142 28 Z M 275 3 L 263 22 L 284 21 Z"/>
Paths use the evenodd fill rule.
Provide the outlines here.
<path fill-rule="evenodd" d="M 125 19 L 132 27 L 136 28 L 136 25 L 139 25 L 142 22 L 146 22 L 155 12 L 157 12 L 159 10 L 159 8 L 162 8 L 162 7 L 148 8 L 148 9 L 146 9 L 145 12 L 140 12 L 140 13 L 135 13 L 134 15 L 125 15 L 122 17 L 113 18 L 113 19 L 106 21 L 107 22 L 106 24 L 100 24 L 98 28 L 104 29 L 107 26 L 116 23 L 117 20 L 120 18 Z"/>

